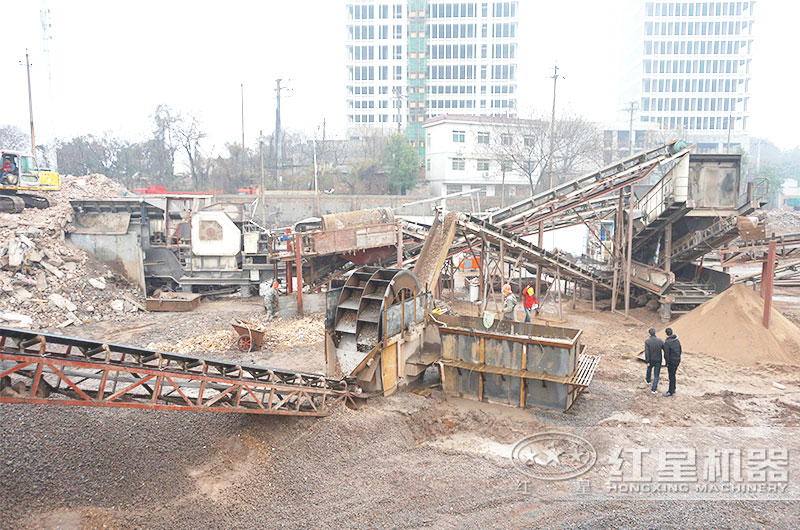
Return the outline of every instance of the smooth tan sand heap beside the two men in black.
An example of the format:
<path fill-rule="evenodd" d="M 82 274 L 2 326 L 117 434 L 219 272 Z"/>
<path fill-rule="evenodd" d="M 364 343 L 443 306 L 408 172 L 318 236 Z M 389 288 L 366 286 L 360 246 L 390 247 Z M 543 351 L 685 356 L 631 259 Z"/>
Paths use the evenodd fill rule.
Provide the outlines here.
<path fill-rule="evenodd" d="M 738 364 L 800 365 L 800 328 L 773 309 L 766 329 L 761 322 L 763 315 L 764 302 L 759 294 L 735 284 L 671 327 L 686 352 Z"/>

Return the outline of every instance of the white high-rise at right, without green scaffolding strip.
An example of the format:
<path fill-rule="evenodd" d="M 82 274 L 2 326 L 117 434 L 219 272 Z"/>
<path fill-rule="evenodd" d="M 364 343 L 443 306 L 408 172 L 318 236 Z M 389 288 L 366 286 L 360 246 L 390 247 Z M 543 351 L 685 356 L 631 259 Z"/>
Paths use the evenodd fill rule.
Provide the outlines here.
<path fill-rule="evenodd" d="M 635 4 L 637 42 L 626 96 L 638 103 L 638 119 L 683 131 L 700 150 L 742 146 L 755 2 Z"/>

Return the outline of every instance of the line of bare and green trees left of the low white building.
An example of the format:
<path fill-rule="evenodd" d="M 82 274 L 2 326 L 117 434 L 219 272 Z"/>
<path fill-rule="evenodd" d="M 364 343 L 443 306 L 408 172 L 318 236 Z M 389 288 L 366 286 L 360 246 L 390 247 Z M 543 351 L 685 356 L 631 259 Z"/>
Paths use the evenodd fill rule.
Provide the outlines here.
<path fill-rule="evenodd" d="M 262 167 L 267 189 L 314 189 L 315 159 L 321 191 L 343 193 L 406 193 L 420 177 L 417 151 L 402 135 L 356 131 L 348 139 L 309 138 L 287 130 L 281 134 L 278 168 L 274 135 L 252 145 L 227 142 L 221 150 L 208 144 L 200 120 L 168 105 L 156 107 L 151 133 L 133 141 L 111 133 L 84 134 L 37 146 L 37 162 L 62 174 L 103 173 L 128 189 L 147 185 L 170 190 L 222 190 L 260 186 Z M 0 148 L 28 152 L 30 136 L 14 126 L 0 126 Z M 215 153 L 216 151 L 216 153 Z"/>

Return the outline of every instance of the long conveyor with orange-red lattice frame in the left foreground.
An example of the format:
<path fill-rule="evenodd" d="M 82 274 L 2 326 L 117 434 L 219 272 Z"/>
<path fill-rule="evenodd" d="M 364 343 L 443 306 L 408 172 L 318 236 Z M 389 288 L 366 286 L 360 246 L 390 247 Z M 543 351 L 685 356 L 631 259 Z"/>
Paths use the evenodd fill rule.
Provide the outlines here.
<path fill-rule="evenodd" d="M 0 403 L 324 416 L 348 380 L 0 327 Z"/>

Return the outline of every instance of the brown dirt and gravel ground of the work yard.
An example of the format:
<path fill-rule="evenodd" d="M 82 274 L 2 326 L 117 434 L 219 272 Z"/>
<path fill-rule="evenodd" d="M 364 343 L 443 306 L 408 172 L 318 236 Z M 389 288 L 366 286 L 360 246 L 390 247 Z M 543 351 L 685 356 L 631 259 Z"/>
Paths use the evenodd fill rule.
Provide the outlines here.
<path fill-rule="evenodd" d="M 793 305 L 800 293 L 782 294 Z M 601 356 L 594 382 L 567 413 L 475 403 L 435 388 L 427 396 L 374 398 L 359 410 L 342 407 L 317 419 L 0 405 L 0 526 L 796 527 L 796 474 L 792 495 L 759 501 L 582 497 L 574 481 L 524 480 L 508 454 L 517 440 L 539 432 L 591 440 L 598 461 L 587 482 L 602 490 L 615 447 L 689 440 L 699 451 L 725 433 L 749 433 L 766 445 L 796 437 L 800 422 L 797 368 L 740 367 L 688 352 L 678 393 L 664 398 L 650 393 L 635 358 L 647 329 L 662 326 L 655 313 L 634 309 L 625 320 L 592 311 L 584 301 L 576 309 L 565 302 L 558 321 L 553 306 L 547 309 L 542 321 L 581 328 L 587 353 Z M 69 334 L 146 346 L 260 311 L 255 300 L 209 302 L 192 313 L 150 313 Z M 313 346 L 208 355 L 322 371 L 321 339 Z M 660 391 L 666 381 L 663 370 Z"/>

